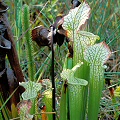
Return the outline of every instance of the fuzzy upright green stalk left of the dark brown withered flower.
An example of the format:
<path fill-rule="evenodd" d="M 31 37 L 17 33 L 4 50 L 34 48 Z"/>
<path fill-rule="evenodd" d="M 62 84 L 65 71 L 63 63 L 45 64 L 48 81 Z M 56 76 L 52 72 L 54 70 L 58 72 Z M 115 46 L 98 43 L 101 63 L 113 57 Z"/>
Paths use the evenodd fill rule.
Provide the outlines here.
<path fill-rule="evenodd" d="M 32 39 L 31 39 L 31 30 L 30 30 L 30 22 L 29 21 L 30 21 L 29 6 L 25 4 L 24 10 L 23 10 L 23 32 L 25 32 L 29 79 L 31 81 L 34 81 L 33 43 L 32 43 Z"/>

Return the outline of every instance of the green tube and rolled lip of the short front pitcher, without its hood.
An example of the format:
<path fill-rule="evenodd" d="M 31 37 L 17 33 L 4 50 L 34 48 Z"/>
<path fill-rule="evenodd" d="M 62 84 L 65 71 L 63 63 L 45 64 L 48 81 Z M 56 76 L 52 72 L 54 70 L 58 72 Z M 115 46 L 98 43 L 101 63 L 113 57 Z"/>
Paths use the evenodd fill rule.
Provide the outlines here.
<path fill-rule="evenodd" d="M 84 119 L 86 111 L 84 110 L 83 91 L 87 84 L 88 82 L 83 79 L 74 79 L 74 82 L 68 82 L 70 120 Z"/>

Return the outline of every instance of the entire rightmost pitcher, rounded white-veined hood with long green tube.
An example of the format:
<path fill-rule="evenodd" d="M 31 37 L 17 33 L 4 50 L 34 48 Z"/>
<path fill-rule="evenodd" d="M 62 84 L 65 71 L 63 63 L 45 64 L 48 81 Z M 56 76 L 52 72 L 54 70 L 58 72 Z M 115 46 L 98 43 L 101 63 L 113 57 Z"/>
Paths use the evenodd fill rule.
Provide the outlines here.
<path fill-rule="evenodd" d="M 88 119 L 97 120 L 102 88 L 104 84 L 103 64 L 111 55 L 105 42 L 88 47 L 84 52 L 84 59 L 90 64 Z M 95 111 L 95 112 L 93 112 Z"/>

